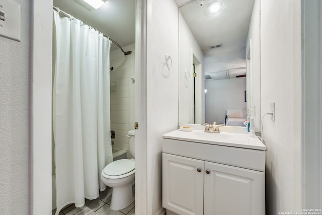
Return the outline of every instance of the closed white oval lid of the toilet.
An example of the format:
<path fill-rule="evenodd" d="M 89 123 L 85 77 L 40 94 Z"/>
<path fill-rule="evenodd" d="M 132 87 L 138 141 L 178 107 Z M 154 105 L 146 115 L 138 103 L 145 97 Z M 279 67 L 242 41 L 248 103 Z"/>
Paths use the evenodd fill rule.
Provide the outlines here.
<path fill-rule="evenodd" d="M 103 172 L 106 175 L 117 176 L 124 175 L 135 169 L 135 162 L 129 159 L 121 159 L 108 164 Z"/>

